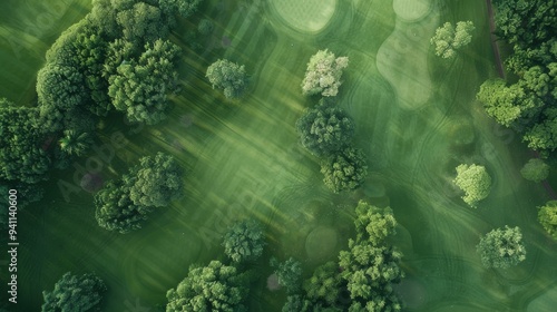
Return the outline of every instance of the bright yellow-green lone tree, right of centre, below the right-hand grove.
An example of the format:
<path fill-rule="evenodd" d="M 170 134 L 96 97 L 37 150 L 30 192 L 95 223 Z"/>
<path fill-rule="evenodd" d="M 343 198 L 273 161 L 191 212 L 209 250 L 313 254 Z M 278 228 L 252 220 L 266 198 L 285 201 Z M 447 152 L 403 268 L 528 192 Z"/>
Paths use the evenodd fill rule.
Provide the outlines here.
<path fill-rule="evenodd" d="M 471 207 L 489 195 L 491 191 L 491 177 L 486 167 L 480 165 L 459 165 L 455 184 L 465 192 L 462 199 Z"/>

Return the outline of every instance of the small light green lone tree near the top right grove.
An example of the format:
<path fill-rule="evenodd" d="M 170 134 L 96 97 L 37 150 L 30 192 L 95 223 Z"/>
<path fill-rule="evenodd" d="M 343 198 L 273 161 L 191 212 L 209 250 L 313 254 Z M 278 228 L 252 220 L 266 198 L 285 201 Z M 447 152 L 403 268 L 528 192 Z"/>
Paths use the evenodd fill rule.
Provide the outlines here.
<path fill-rule="evenodd" d="M 430 42 L 436 46 L 437 56 L 450 59 L 457 56 L 459 49 L 470 43 L 473 30 L 475 27 L 471 21 L 459 21 L 456 29 L 452 23 L 446 22 L 436 30 L 436 35 Z"/>

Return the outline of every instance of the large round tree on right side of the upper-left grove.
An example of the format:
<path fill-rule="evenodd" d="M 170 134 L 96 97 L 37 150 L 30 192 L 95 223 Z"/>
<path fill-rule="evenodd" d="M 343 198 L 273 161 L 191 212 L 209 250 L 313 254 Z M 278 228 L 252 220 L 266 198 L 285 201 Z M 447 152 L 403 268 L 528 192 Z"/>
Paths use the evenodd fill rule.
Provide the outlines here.
<path fill-rule="evenodd" d="M 155 125 L 165 119 L 167 94 L 177 91 L 179 51 L 170 41 L 156 40 L 145 45 L 139 59 L 123 60 L 109 78 L 108 95 L 116 109 L 126 111 L 130 121 Z"/>

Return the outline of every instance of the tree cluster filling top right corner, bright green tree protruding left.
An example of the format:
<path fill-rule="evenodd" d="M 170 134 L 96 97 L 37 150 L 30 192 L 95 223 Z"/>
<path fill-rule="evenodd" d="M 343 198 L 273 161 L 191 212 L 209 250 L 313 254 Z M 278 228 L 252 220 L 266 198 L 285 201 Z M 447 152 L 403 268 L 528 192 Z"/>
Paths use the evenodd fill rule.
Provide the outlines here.
<path fill-rule="evenodd" d="M 520 134 L 528 147 L 548 155 L 557 148 L 557 10 L 551 1 L 495 1 L 496 35 L 514 46 L 511 74 L 485 81 L 477 95 L 497 123 Z"/>

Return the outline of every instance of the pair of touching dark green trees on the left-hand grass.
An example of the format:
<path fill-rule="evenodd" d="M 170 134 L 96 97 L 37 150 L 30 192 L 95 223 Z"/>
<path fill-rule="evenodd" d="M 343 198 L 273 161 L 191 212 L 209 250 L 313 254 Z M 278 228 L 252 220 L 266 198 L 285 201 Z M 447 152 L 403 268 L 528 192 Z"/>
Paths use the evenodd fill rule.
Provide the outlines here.
<path fill-rule="evenodd" d="M 95 194 L 95 217 L 108 231 L 128 233 L 141 227 L 154 209 L 183 194 L 183 170 L 173 156 L 143 157 L 121 178 Z"/>

